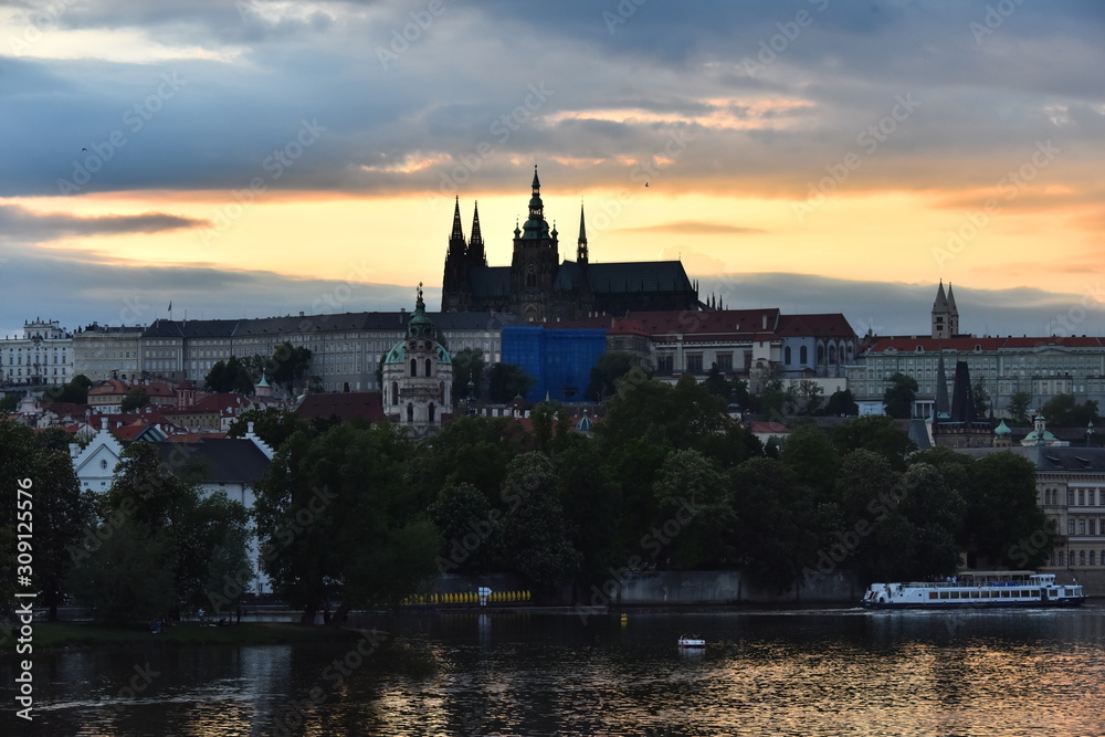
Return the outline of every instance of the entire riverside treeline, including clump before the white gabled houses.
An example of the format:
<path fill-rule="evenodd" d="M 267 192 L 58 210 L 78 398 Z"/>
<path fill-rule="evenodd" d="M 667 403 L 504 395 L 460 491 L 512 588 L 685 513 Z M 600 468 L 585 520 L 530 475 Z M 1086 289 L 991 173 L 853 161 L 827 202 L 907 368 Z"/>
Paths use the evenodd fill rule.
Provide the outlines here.
<path fill-rule="evenodd" d="M 1023 459 L 917 453 L 886 417 L 831 432 L 808 420 L 780 451 L 727 404 L 692 377 L 671 386 L 633 368 L 591 435 L 555 403 L 537 406 L 530 428 L 459 417 L 424 440 L 390 423 L 246 413 L 234 432 L 253 421 L 278 448 L 252 520 L 201 494 L 188 459 L 167 467 L 146 443 L 127 448 L 108 493 L 83 493 L 63 433 L 0 422 L 0 594 L 10 610 L 24 477 L 39 606 L 75 597 L 101 619 L 234 606 L 257 562 L 251 527 L 274 590 L 305 621 L 398 602 L 441 573 L 511 571 L 538 594 L 573 587 L 587 600 L 631 569 L 739 568 L 782 589 L 839 569 L 948 576 L 962 552 L 978 567 L 1032 568 L 1051 552 Z"/>

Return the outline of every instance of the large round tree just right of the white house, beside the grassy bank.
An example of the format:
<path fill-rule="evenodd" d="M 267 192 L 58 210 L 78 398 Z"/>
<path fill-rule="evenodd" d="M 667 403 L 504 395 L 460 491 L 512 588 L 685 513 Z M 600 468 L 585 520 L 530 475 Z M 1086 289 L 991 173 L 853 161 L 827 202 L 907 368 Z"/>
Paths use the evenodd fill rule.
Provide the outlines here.
<path fill-rule="evenodd" d="M 263 566 L 304 623 L 334 598 L 337 622 L 398 603 L 438 573 L 443 541 L 404 473 L 412 442 L 390 423 L 297 430 L 257 482 Z"/>

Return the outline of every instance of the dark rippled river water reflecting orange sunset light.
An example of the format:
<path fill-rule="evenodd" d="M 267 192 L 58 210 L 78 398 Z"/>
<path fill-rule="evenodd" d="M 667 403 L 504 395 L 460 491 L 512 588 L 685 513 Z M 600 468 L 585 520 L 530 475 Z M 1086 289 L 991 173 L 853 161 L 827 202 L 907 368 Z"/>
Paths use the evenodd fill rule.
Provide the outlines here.
<path fill-rule="evenodd" d="M 388 630 L 366 656 L 345 646 L 39 655 L 35 731 L 1105 734 L 1105 609 L 1093 606 L 630 613 L 624 625 L 455 614 Z M 709 645 L 681 652 L 683 633 Z M 0 664 L 6 684 L 10 665 Z M 128 682 L 141 686 L 133 697 Z"/>

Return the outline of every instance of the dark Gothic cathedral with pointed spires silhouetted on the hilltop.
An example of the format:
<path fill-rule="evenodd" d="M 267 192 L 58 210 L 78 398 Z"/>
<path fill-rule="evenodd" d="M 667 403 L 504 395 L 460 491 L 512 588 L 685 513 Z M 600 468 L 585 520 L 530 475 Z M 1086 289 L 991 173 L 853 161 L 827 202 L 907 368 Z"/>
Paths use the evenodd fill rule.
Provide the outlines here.
<path fill-rule="evenodd" d="M 559 235 L 545 220 L 540 189 L 534 167 L 529 218 L 520 228 L 515 225 L 509 266 L 487 265 L 478 208 L 465 241 L 457 198 L 445 254 L 443 313 L 496 310 L 541 323 L 702 306 L 698 289 L 680 261 L 591 263 L 582 206 L 576 260 L 561 262 Z"/>

